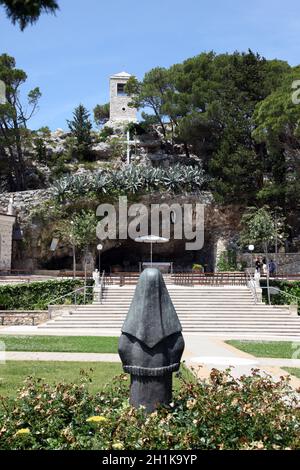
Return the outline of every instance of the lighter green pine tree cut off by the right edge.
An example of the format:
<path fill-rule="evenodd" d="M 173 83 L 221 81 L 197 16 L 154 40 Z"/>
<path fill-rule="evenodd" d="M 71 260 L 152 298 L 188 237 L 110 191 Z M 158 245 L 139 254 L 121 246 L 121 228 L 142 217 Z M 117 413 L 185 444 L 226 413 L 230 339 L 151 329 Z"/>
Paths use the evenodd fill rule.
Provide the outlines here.
<path fill-rule="evenodd" d="M 265 145 L 266 178 L 258 197 L 268 203 L 297 208 L 300 197 L 300 104 L 292 85 L 300 67 L 289 71 L 281 85 L 257 104 L 253 137 Z"/>

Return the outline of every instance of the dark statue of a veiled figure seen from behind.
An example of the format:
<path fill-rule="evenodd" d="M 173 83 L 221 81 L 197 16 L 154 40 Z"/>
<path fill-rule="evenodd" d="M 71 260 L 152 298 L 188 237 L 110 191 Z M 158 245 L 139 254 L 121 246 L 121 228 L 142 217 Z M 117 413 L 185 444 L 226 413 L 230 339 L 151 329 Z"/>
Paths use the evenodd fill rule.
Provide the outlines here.
<path fill-rule="evenodd" d="M 172 374 L 184 350 L 182 328 L 158 269 L 141 274 L 122 327 L 119 355 L 131 375 L 130 403 L 151 413 L 172 401 Z"/>

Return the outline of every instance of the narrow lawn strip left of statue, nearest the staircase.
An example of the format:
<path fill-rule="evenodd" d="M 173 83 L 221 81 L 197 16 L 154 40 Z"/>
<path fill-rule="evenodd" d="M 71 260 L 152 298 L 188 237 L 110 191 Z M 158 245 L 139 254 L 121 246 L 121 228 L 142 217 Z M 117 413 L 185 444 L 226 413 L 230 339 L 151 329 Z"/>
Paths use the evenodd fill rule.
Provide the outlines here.
<path fill-rule="evenodd" d="M 118 338 L 105 336 L 0 335 L 6 351 L 117 353 Z"/>

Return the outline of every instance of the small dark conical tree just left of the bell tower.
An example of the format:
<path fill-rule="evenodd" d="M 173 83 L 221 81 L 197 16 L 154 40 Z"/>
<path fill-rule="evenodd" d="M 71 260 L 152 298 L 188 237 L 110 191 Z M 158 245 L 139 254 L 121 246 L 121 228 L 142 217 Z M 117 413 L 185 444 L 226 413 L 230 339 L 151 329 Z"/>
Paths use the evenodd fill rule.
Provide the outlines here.
<path fill-rule="evenodd" d="M 92 145 L 92 123 L 88 110 L 80 104 L 73 112 L 72 121 L 67 121 L 72 135 L 76 139 L 76 154 L 86 159 L 90 156 Z"/>

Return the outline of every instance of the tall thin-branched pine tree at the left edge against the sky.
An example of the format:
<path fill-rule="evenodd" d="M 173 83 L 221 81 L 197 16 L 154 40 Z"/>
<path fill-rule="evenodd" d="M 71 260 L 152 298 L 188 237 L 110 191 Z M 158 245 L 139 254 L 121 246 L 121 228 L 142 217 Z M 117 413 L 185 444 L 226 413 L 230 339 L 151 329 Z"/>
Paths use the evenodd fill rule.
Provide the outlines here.
<path fill-rule="evenodd" d="M 0 153 L 7 165 L 11 191 L 26 189 L 24 153 L 30 138 L 27 124 L 36 112 L 41 96 L 39 88 L 34 88 L 27 95 L 27 103 L 22 103 L 21 86 L 26 79 L 26 73 L 16 68 L 13 57 L 0 56 L 0 80 L 6 88 L 6 103 L 0 104 Z"/>

